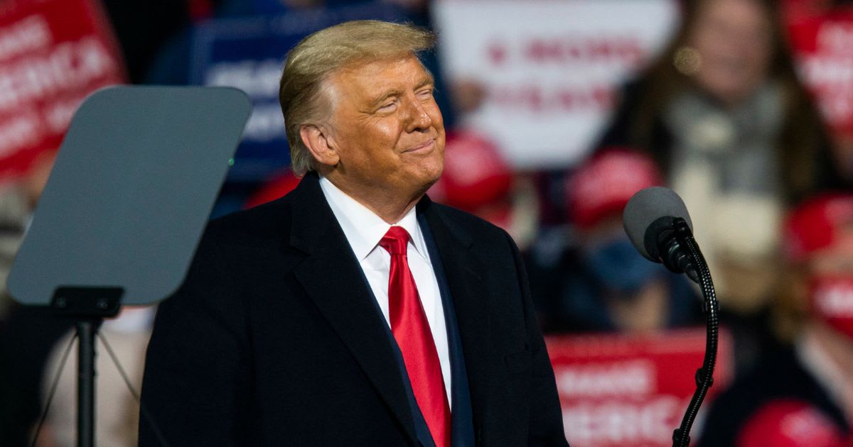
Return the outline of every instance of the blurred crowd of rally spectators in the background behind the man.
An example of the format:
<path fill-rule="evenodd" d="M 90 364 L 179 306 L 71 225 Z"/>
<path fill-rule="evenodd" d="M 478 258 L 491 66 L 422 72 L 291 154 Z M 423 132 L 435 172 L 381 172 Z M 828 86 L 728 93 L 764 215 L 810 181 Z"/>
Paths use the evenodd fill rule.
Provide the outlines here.
<path fill-rule="evenodd" d="M 427 0 L 102 0 L 101 6 L 130 83 L 184 84 L 194 26 L 352 3 L 375 3 L 432 26 Z M 670 42 L 619 89 L 606 128 L 571 166 L 514 168 L 502 156 L 502 141 L 466 119 L 489 97 L 488 85 L 447 76 L 441 48 L 427 54 L 448 128 L 444 175 L 429 194 L 513 236 L 547 334 L 646 334 L 705 323 L 699 289 L 644 259 L 622 229 L 622 209 L 635 192 L 673 188 L 688 206 L 722 325 L 734 340 L 734 384 L 711 408 L 699 443 L 850 445 L 853 125 L 826 106 L 834 90 L 827 95 L 809 83 L 797 51 L 810 23 L 853 17 L 853 4 L 678 3 L 682 17 Z M 0 281 L 52 153 L 20 181 L 2 185 Z M 292 190 L 298 179 L 286 164 L 279 168 L 264 181 L 226 183 L 215 214 Z M 103 328 L 137 389 L 153 312 L 125 310 Z M 4 291 L 0 296 L 0 445 L 29 443 L 70 328 L 45 309 L 15 305 Z M 138 409 L 108 360 L 98 360 L 99 381 L 109 387 L 99 392 L 106 419 L 98 428 L 109 431 L 105 445 L 132 445 L 136 427 L 129 421 Z M 68 377 L 38 445 L 73 443 Z"/>

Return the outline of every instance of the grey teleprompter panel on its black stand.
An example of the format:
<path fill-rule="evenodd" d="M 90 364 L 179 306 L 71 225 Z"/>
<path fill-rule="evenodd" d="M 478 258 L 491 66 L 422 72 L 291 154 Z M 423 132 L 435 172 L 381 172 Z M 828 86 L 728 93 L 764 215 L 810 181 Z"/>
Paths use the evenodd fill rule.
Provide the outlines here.
<path fill-rule="evenodd" d="M 183 283 L 250 112 L 237 89 L 124 86 L 74 115 L 8 288 L 75 320 L 78 447 L 95 445 L 103 318 Z"/>

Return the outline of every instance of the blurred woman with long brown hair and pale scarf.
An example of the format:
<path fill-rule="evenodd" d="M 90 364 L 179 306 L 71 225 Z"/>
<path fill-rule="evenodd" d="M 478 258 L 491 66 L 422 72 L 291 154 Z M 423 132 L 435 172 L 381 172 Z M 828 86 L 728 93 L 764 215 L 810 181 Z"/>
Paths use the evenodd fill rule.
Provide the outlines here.
<path fill-rule="evenodd" d="M 630 83 L 601 146 L 663 169 L 695 222 L 721 304 L 766 303 L 789 203 L 844 186 L 798 80 L 775 2 L 691 0 L 659 59 Z"/>

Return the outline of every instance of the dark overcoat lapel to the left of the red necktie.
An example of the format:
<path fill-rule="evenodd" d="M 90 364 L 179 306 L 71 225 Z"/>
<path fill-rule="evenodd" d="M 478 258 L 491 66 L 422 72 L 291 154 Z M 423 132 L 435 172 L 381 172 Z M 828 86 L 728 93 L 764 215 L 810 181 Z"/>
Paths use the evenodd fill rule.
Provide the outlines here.
<path fill-rule="evenodd" d="M 316 175 L 306 175 L 292 196 L 289 245 L 307 255 L 293 273 L 397 417 L 403 432 L 415 442 L 414 421 L 385 318 Z"/>

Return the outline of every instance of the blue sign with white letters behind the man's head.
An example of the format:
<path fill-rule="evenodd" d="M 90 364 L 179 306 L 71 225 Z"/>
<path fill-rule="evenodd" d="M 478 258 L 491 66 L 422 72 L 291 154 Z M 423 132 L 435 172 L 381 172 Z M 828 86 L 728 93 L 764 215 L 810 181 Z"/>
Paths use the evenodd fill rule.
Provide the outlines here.
<path fill-rule="evenodd" d="M 229 181 L 263 181 L 290 164 L 278 84 L 284 58 L 312 32 L 348 20 L 401 21 L 389 3 L 293 11 L 276 16 L 206 21 L 194 30 L 189 81 L 225 85 L 252 99 L 249 118 Z"/>

